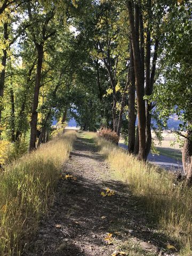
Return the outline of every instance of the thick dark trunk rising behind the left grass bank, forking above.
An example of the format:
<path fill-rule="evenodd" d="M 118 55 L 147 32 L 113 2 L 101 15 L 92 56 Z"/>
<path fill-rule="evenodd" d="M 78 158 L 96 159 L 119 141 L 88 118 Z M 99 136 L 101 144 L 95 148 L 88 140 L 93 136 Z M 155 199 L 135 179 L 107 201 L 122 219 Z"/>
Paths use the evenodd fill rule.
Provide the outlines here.
<path fill-rule="evenodd" d="M 36 71 L 36 78 L 35 78 L 33 109 L 32 109 L 31 122 L 30 122 L 31 129 L 30 129 L 29 151 L 32 151 L 36 148 L 37 117 L 38 117 L 37 107 L 38 107 L 39 89 L 41 86 L 43 44 L 36 44 L 36 49 L 38 53 L 38 60 L 37 60 L 37 71 Z"/>

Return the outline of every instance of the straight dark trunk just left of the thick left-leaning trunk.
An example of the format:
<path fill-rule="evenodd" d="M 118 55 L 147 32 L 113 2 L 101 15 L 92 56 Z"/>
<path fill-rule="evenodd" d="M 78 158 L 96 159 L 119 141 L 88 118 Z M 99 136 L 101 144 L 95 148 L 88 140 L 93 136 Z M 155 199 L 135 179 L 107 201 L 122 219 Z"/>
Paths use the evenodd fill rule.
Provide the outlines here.
<path fill-rule="evenodd" d="M 134 62 L 133 49 L 130 40 L 130 85 L 129 85 L 129 126 L 128 126 L 128 152 L 134 152 L 135 146 L 135 76 L 134 76 Z"/>

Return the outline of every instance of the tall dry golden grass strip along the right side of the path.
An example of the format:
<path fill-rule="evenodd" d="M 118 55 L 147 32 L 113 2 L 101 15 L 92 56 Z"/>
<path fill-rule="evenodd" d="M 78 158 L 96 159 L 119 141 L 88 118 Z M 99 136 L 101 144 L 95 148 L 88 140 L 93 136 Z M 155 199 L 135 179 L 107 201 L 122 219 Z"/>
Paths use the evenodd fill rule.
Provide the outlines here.
<path fill-rule="evenodd" d="M 112 143 L 97 138 L 100 152 L 107 157 L 113 175 L 129 183 L 155 216 L 159 228 L 172 236 L 182 255 L 192 255 L 192 190 L 174 183 L 174 175 L 137 158 Z"/>

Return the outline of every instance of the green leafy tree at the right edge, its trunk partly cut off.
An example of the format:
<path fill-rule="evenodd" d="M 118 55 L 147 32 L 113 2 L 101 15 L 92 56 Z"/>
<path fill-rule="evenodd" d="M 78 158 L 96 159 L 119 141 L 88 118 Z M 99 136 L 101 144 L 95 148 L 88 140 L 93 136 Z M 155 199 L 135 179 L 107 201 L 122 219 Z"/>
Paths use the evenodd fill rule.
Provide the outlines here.
<path fill-rule="evenodd" d="M 177 114 L 181 121 L 179 130 L 175 132 L 185 138 L 182 162 L 189 185 L 192 183 L 191 12 L 191 1 L 178 1 L 167 13 L 162 26 L 165 38 L 158 63 L 160 77 L 163 78 L 155 84 L 152 98 L 159 118 Z"/>

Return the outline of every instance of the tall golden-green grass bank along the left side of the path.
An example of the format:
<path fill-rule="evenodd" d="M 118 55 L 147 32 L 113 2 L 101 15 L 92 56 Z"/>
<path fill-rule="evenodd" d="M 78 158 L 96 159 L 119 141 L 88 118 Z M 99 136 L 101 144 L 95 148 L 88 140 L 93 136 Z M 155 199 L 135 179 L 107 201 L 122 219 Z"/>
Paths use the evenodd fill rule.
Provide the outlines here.
<path fill-rule="evenodd" d="M 20 255 L 52 202 L 75 132 L 54 138 L 0 173 L 0 255 Z"/>

